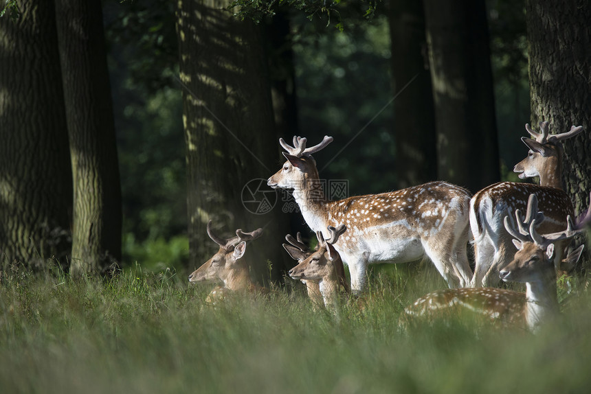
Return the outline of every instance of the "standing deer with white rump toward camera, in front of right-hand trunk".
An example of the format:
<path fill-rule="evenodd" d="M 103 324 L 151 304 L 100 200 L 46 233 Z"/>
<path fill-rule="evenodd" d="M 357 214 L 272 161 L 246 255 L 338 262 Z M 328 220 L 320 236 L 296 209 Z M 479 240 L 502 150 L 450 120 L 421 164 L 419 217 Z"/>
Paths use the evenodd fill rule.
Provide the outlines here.
<path fill-rule="evenodd" d="M 474 238 L 476 267 L 471 286 L 496 286 L 499 270 L 515 255 L 512 237 L 503 227 L 502 218 L 515 209 L 525 209 L 530 194 L 539 200 L 539 208 L 546 220 L 540 224 L 541 233 L 550 233 L 566 228 L 565 218 L 574 214 L 568 194 L 562 190 L 562 146 L 561 141 L 575 137 L 582 126 L 572 126 L 570 131 L 550 135 L 548 122 L 539 124 L 537 133 L 526 124 L 526 130 L 535 139 L 522 137 L 530 148 L 528 156 L 517 163 L 513 171 L 520 178 L 539 176 L 539 185 L 530 183 L 500 182 L 485 187 L 470 200 L 470 227 Z M 561 263 L 564 249 L 570 239 L 555 245 L 555 266 Z"/>

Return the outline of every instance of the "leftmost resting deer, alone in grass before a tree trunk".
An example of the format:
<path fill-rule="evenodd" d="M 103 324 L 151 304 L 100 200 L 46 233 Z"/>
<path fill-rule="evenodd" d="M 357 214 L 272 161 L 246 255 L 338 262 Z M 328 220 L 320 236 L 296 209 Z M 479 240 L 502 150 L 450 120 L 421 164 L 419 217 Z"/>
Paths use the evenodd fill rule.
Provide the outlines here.
<path fill-rule="evenodd" d="M 263 229 L 256 229 L 251 233 L 236 230 L 236 237 L 223 239 L 212 232 L 212 221 L 208 222 L 208 235 L 216 244 L 219 251 L 207 262 L 189 275 L 189 281 L 195 282 L 223 282 L 223 286 L 214 288 L 206 303 L 214 304 L 222 300 L 229 292 L 264 292 L 264 288 L 256 286 L 250 277 L 250 262 L 243 258 L 246 252 L 246 242 L 256 240 L 263 234 Z"/>

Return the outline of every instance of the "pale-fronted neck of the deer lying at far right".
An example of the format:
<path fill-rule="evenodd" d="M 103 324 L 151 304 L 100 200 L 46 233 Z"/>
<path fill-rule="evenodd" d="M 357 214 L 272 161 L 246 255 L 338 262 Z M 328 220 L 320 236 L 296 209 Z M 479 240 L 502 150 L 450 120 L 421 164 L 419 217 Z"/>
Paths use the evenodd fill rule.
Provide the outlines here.
<path fill-rule="evenodd" d="M 559 312 L 556 279 L 526 283 L 526 322 L 535 331 L 540 324 Z"/>

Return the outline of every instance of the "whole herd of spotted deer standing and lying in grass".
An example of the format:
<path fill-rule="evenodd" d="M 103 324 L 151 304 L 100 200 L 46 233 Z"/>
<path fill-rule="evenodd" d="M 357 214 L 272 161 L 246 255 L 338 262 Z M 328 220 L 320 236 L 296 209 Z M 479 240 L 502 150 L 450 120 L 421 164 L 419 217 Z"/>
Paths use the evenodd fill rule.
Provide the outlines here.
<path fill-rule="evenodd" d="M 318 308 L 334 310 L 341 290 L 359 297 L 367 283 L 368 264 L 430 260 L 449 288 L 425 294 L 404 310 L 406 319 L 438 318 L 459 312 L 476 313 L 498 325 L 534 331 L 559 310 L 557 273 L 574 266 L 583 245 L 571 248 L 572 237 L 584 233 L 591 208 L 575 224 L 572 202 L 562 189 L 561 141 L 583 128 L 550 135 L 548 122 L 533 137 L 522 137 L 528 156 L 517 163 L 519 177 L 539 176 L 539 185 L 500 182 L 473 196 L 467 189 L 443 181 L 396 192 L 328 200 L 312 154 L 328 146 L 324 137 L 315 146 L 293 137 L 280 139 L 285 163 L 269 178 L 272 188 L 290 189 L 306 224 L 317 237 L 310 249 L 300 233 L 286 236 L 285 251 L 298 262 L 289 276 L 305 283 Z M 522 212 L 525 211 L 525 216 Z M 232 292 L 265 292 L 252 281 L 247 243 L 263 229 L 236 230 L 220 238 L 208 223 L 208 235 L 219 251 L 189 275 L 189 281 L 217 281 L 207 303 Z M 473 244 L 474 270 L 467 248 Z M 566 257 L 565 257 L 566 256 Z M 350 286 L 344 266 L 348 266 Z M 525 283 L 526 292 L 498 288 L 501 281 Z"/>

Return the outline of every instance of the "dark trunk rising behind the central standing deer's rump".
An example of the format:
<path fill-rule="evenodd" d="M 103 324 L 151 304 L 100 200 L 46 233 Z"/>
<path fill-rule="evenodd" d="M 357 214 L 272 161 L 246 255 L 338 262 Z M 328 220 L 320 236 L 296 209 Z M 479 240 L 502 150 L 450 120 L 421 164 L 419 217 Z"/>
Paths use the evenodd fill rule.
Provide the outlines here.
<path fill-rule="evenodd" d="M 484 0 L 425 0 L 439 178 L 477 192 L 500 178 Z"/>

